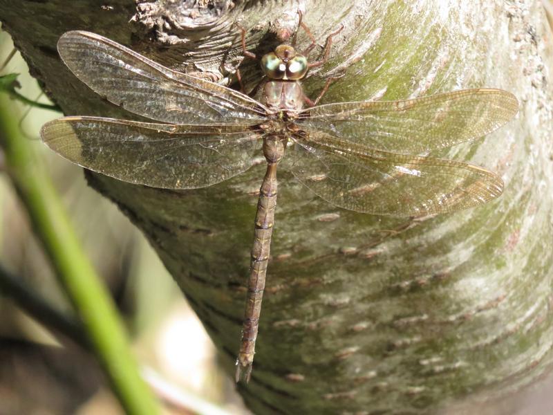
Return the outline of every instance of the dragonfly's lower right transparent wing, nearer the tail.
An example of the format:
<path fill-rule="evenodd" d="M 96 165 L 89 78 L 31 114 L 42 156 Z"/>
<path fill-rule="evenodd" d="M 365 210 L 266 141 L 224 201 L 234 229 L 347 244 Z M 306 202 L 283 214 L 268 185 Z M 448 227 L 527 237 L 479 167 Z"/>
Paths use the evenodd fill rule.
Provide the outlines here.
<path fill-rule="evenodd" d="M 375 151 L 324 133 L 294 140 L 283 167 L 322 199 L 356 212 L 392 216 L 451 212 L 503 192 L 500 177 L 466 163 Z"/>

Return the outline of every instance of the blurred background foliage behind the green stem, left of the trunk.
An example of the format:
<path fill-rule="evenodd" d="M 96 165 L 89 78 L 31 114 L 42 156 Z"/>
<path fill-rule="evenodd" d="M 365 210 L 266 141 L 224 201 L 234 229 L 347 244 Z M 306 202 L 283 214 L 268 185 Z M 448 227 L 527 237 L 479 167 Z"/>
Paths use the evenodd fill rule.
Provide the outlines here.
<path fill-rule="evenodd" d="M 17 92 L 50 104 L 4 32 L 0 62 L 5 62 L 0 75 L 19 74 Z M 118 304 L 143 375 L 156 394 L 171 413 L 245 413 L 234 385 L 218 369 L 203 326 L 142 234 L 113 203 L 86 185 L 82 169 L 41 144 L 41 125 L 62 114 L 11 102 L 12 116 L 44 159 L 86 254 Z M 3 169 L 1 157 L 0 165 Z M 0 215 L 1 266 L 53 308 L 71 315 L 71 305 L 6 174 L 0 174 Z M 100 387 L 102 375 L 88 353 L 66 343 L 60 348 L 59 339 L 1 291 L 0 315 L 1 414 L 121 412 L 108 389 Z"/>

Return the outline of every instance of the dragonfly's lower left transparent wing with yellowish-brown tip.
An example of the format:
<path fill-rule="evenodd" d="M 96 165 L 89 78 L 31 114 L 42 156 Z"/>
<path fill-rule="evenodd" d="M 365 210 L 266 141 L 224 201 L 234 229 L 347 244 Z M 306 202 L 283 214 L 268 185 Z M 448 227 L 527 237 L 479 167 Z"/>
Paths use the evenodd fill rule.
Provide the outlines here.
<path fill-rule="evenodd" d="M 261 141 L 245 126 L 150 124 L 66 117 L 44 124 L 48 147 L 82 167 L 129 183 L 193 189 L 252 166 Z"/>

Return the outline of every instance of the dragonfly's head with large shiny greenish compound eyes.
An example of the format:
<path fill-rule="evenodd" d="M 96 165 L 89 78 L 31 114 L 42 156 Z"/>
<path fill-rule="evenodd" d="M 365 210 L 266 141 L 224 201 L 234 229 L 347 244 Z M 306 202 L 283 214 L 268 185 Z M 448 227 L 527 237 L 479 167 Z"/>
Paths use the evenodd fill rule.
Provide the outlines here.
<path fill-rule="evenodd" d="M 279 45 L 261 58 L 261 69 L 271 80 L 301 80 L 308 70 L 307 58 L 289 45 Z"/>

